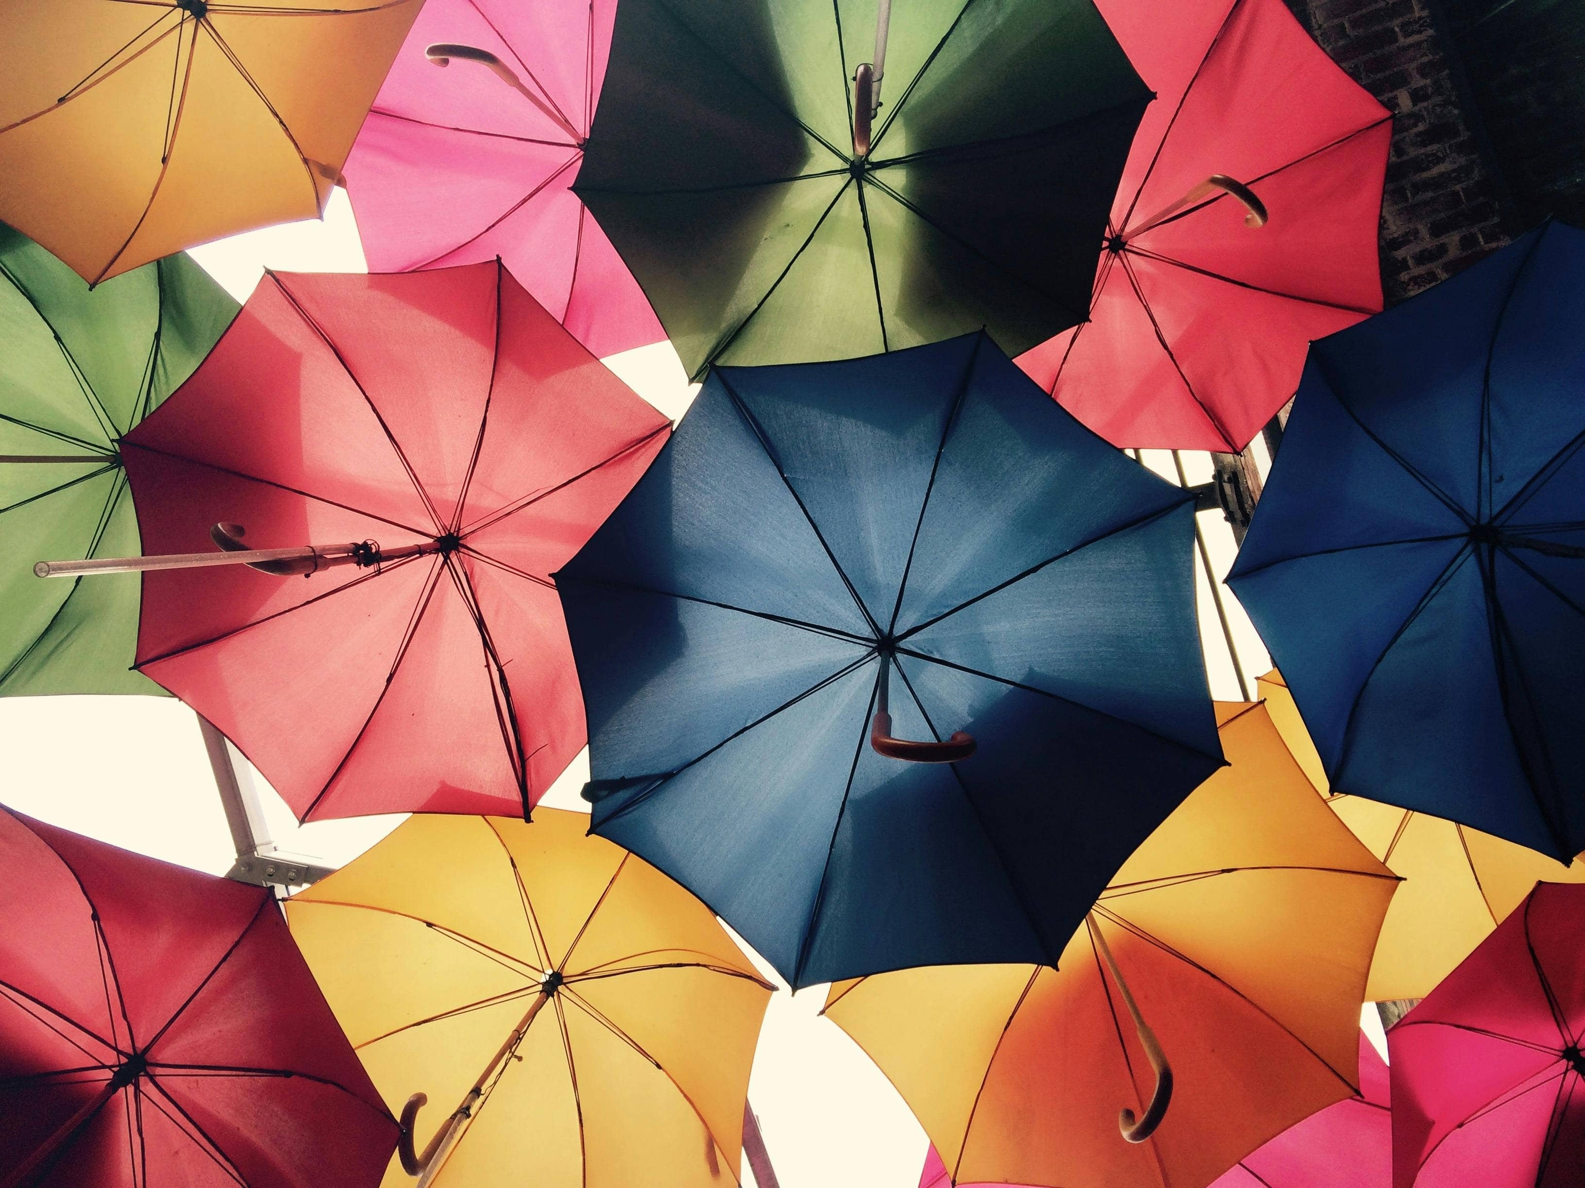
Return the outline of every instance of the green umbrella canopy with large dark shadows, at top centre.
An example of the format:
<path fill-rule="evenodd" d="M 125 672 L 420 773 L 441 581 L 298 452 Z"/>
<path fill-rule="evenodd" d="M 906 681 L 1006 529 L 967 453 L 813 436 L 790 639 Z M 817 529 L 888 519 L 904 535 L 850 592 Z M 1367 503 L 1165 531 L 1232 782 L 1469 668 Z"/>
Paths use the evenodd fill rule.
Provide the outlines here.
<path fill-rule="evenodd" d="M 623 0 L 575 190 L 694 379 L 1084 320 L 1151 98 L 1100 13 L 921 0 L 881 29 L 870 0 Z"/>

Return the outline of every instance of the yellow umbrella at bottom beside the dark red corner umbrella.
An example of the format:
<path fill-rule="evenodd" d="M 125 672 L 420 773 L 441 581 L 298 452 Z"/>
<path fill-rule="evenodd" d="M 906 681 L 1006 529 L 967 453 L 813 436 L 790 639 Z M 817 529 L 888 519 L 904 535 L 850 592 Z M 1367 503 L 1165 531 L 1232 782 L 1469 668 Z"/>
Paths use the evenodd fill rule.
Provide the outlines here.
<path fill-rule="evenodd" d="M 708 908 L 586 828 L 414 816 L 287 901 L 387 1104 L 434 1102 L 406 1109 L 417 1158 L 388 1188 L 737 1183 L 772 987 Z"/>

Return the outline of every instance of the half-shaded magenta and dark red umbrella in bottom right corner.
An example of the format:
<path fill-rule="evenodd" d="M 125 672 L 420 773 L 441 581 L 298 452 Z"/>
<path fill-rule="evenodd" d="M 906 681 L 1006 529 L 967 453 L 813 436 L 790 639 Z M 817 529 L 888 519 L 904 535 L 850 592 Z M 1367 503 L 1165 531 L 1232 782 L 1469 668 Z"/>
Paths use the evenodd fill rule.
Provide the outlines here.
<path fill-rule="evenodd" d="M 1585 887 L 1542 882 L 1387 1033 L 1393 1188 L 1574 1188 Z"/>

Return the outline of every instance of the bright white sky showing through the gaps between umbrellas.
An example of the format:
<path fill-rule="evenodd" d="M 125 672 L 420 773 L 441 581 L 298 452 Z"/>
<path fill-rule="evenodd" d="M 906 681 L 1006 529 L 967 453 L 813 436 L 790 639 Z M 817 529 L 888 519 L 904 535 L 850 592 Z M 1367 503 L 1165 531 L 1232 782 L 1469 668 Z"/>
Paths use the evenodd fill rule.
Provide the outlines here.
<path fill-rule="evenodd" d="M 238 301 L 263 268 L 303 272 L 366 271 L 352 206 L 336 190 L 323 222 L 287 223 L 193 249 L 192 255 Z M 626 352 L 607 364 L 640 396 L 677 418 L 691 393 L 667 344 Z M 1171 456 L 1146 451 L 1144 463 L 1174 478 Z M 1206 455 L 1184 455 L 1189 482 L 1209 478 Z M 1200 515 L 1217 578 L 1233 559 L 1220 512 Z M 1270 664 L 1249 621 L 1225 594 L 1251 694 Z M 1213 695 L 1239 699 L 1209 586 L 1201 573 L 1201 637 Z M 6 784 L 0 798 L 30 816 L 143 854 L 223 874 L 231 838 L 216 795 L 193 713 L 163 697 L 0 699 L 0 754 Z M 574 760 L 547 795 L 556 808 L 583 809 L 577 790 L 588 779 L 586 756 Z M 327 821 L 298 827 L 285 805 L 263 789 L 271 840 L 293 857 L 339 866 L 395 828 L 401 817 Z M 762 973 L 773 971 L 759 963 Z M 926 1137 L 902 1098 L 853 1041 L 818 1017 L 824 987 L 770 1003 L 754 1058 L 750 1099 L 783 1188 L 915 1188 Z M 1368 1030 L 1385 1055 L 1374 1009 Z M 753 1182 L 743 1163 L 745 1183 Z"/>

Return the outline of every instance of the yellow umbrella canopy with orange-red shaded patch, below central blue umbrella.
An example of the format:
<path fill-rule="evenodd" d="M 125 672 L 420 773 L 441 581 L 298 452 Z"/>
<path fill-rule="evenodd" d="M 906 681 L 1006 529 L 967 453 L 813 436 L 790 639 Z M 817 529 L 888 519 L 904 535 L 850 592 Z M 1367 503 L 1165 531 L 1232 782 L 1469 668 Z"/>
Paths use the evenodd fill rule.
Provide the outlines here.
<path fill-rule="evenodd" d="M 1322 805 L 1260 705 L 1219 705 L 1230 767 L 1135 851 L 1059 969 L 937 966 L 832 985 L 954 1183 L 1200 1188 L 1355 1093 L 1376 930 L 1396 881 Z M 1108 954 L 1124 982 L 1108 965 Z M 1174 1090 L 1154 1090 L 1124 985 Z"/>

